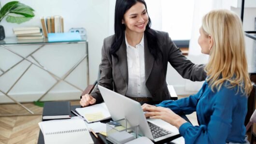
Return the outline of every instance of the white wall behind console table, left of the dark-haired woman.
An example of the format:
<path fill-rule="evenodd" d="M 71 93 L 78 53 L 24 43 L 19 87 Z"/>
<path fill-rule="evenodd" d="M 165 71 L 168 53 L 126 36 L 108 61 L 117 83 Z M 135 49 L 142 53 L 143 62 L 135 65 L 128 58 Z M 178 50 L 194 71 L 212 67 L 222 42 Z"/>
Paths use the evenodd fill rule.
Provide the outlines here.
<path fill-rule="evenodd" d="M 9 2 L 11 0 L 1 0 L 1 5 L 3 6 L 5 3 Z M 52 15 L 61 15 L 64 18 L 64 31 L 68 32 L 70 28 L 72 27 L 84 27 L 87 30 L 87 38 L 88 38 L 88 51 L 89 51 L 89 73 L 90 73 L 90 84 L 93 83 L 97 79 L 98 75 L 98 68 L 100 64 L 100 53 L 101 53 L 101 47 L 103 43 L 103 39 L 107 36 L 109 36 L 109 0 L 19 0 L 20 2 L 29 5 L 35 10 L 35 17 L 23 24 L 11 24 L 7 23 L 5 19 L 0 23 L 4 26 L 5 29 L 5 35 L 6 36 L 14 36 L 12 28 L 13 27 L 23 27 L 23 26 L 41 26 L 40 23 L 40 17 L 42 16 L 52 16 Z M 26 51 L 29 51 L 28 49 L 33 49 L 37 46 L 30 46 L 30 47 L 19 47 L 15 46 L 13 47 L 14 50 L 19 50 L 22 54 L 25 54 Z M 80 54 L 84 53 L 85 47 L 84 46 L 71 46 L 70 48 L 64 48 L 65 46 L 62 45 L 55 45 L 54 48 L 61 51 L 63 49 L 62 54 L 66 57 L 66 55 L 70 55 L 68 57 L 67 61 L 74 62 L 78 58 L 80 58 Z M 48 52 L 53 53 L 54 48 L 50 48 Z M 75 50 L 75 48 L 81 48 L 80 52 L 79 50 Z M 71 51 L 70 51 L 71 50 Z M 38 59 L 44 59 L 46 60 L 45 63 L 51 62 L 51 59 L 49 59 L 50 53 L 42 53 L 42 55 L 37 55 Z M 65 57 L 63 59 L 65 59 Z M 13 58 L 13 59 L 11 59 Z M 8 59 L 8 60 L 6 60 Z M 20 58 L 15 57 L 10 52 L 7 52 L 3 48 L 0 48 L 0 68 L 1 69 L 8 69 L 10 65 L 14 63 L 15 60 L 18 60 Z M 48 61 L 47 61 L 48 60 Z M 64 62 L 67 62 L 64 61 Z M 24 67 L 28 65 L 26 61 L 23 63 Z M 73 84 L 76 84 L 78 87 L 81 87 L 82 89 L 85 88 L 85 62 L 82 62 L 81 66 L 79 66 L 74 72 L 75 74 L 72 76 L 72 80 L 69 81 Z M 20 72 L 22 68 L 24 68 L 22 65 L 20 65 L 20 69 L 16 70 L 14 72 L 14 75 L 18 75 L 17 72 Z M 31 71 L 37 71 L 33 70 L 34 68 L 31 68 Z M 29 70 L 30 71 L 30 70 Z M 57 68 L 57 71 L 61 74 L 65 73 L 65 70 L 59 70 Z M 79 72 L 80 71 L 80 72 Z M 83 73 L 84 72 L 84 73 Z M 44 75 L 44 72 L 30 72 L 28 73 L 28 79 L 26 82 L 29 82 L 30 79 L 33 77 L 38 77 L 38 75 Z M 8 74 L 9 75 L 9 74 Z M 14 76 L 13 75 L 13 76 Z M 49 75 L 48 75 L 49 76 Z M 18 98 L 20 101 L 33 101 L 38 97 L 40 94 L 43 93 L 43 90 L 46 90 L 49 88 L 49 84 L 53 83 L 53 80 L 47 79 L 48 76 L 43 78 L 43 83 L 41 84 L 41 89 L 34 89 L 29 90 L 30 86 L 26 86 L 26 84 L 17 84 L 14 89 L 9 93 L 10 96 Z M 10 77 L 10 76 L 5 76 Z M 47 79 L 47 80 L 46 80 Z M 83 81 L 83 82 L 82 82 Z M 46 83 L 46 84 L 45 84 Z M 4 90 L 6 92 L 6 86 L 12 85 L 13 81 L 10 82 L 8 78 L 0 78 L 0 89 Z M 83 86 L 84 85 L 84 86 Z M 24 89 L 24 87 L 26 87 Z M 72 88 L 69 88 L 67 84 L 60 84 L 57 86 L 55 90 L 56 92 L 59 92 L 59 94 L 52 94 L 48 96 L 48 99 L 44 100 L 50 100 L 52 98 L 61 97 L 64 96 L 66 98 L 70 99 L 78 99 L 79 94 L 81 92 L 79 90 L 74 90 Z M 69 89 L 76 93 L 78 96 L 71 96 L 67 94 Z M 26 92 L 25 92 L 26 90 Z M 45 91 L 44 91 L 45 92 Z M 24 98 L 22 96 L 28 96 L 28 98 Z M 31 97 L 32 96 L 32 97 Z M 50 99 L 49 99 L 50 98 Z M 0 94 L 0 103 L 1 102 L 11 102 L 10 99 L 6 98 L 6 96 Z"/>

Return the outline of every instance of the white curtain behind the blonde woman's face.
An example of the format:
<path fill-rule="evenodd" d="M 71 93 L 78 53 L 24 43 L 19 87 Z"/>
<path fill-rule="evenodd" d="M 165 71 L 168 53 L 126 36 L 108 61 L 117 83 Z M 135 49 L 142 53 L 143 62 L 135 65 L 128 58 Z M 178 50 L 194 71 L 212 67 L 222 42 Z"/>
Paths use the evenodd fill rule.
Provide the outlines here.
<path fill-rule="evenodd" d="M 230 10 L 231 0 L 195 0 L 194 17 L 192 24 L 192 33 L 189 43 L 188 59 L 194 63 L 207 63 L 208 55 L 201 53 L 201 48 L 198 44 L 199 28 L 201 26 L 202 17 L 213 9 L 228 9 Z M 192 82 L 185 80 L 186 91 L 198 91 L 203 82 Z"/>

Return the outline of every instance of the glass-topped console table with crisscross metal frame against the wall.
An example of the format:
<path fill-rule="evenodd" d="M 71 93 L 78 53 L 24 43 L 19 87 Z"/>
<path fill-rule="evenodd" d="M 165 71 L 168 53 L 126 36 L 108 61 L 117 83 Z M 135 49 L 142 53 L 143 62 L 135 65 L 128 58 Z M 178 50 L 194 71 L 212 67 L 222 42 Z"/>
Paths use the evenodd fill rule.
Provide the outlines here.
<path fill-rule="evenodd" d="M 72 65 L 71 68 L 69 68 L 69 70 L 62 76 L 58 76 L 58 74 L 56 74 L 55 72 L 51 72 L 49 69 L 47 69 L 47 67 L 45 67 L 40 60 L 37 60 L 37 58 L 34 56 L 34 54 L 36 54 L 39 50 L 42 50 L 45 46 L 48 45 L 70 45 L 69 48 L 73 48 L 74 45 L 79 44 L 79 46 L 81 45 L 83 47 L 83 49 L 85 49 L 85 53 L 81 54 L 82 57 L 77 59 L 78 61 L 76 61 L 76 63 L 74 65 Z M 16 48 L 15 46 L 36 46 L 37 48 L 33 51 L 31 51 L 27 56 L 22 56 L 21 54 L 19 54 L 18 52 L 16 52 L 14 50 L 14 48 Z M 12 46 L 14 46 L 14 48 L 11 48 Z M 42 96 L 40 96 L 37 101 L 41 101 L 42 98 L 44 96 L 46 96 L 46 94 L 48 94 L 49 91 L 51 91 L 59 82 L 64 82 L 66 84 L 71 85 L 72 87 L 76 88 L 77 90 L 83 92 L 83 89 L 81 89 L 79 86 L 70 83 L 66 80 L 66 78 L 81 64 L 82 61 L 85 60 L 86 63 L 86 80 L 81 80 L 84 81 L 87 85 L 89 84 L 89 65 L 88 65 L 88 42 L 86 40 L 85 37 L 82 37 L 81 40 L 76 40 L 76 41 L 59 41 L 59 42 L 48 42 L 47 38 L 44 39 L 32 39 L 32 40 L 17 40 L 17 37 L 6 37 L 4 40 L 0 41 L 0 48 L 4 48 L 5 50 L 11 52 L 12 54 L 14 54 L 16 57 L 21 58 L 20 61 L 17 61 L 13 66 L 11 66 L 9 69 L 1 69 L 0 68 L 0 77 L 4 76 L 4 74 L 6 74 L 7 72 L 9 72 L 10 70 L 12 70 L 14 67 L 18 66 L 19 63 L 21 63 L 23 60 L 26 60 L 29 62 L 29 66 L 26 68 L 26 70 L 24 72 L 22 72 L 21 75 L 18 76 L 18 78 L 15 80 L 14 84 L 12 84 L 9 88 L 8 91 L 4 91 L 0 88 L 0 93 L 2 93 L 4 96 L 10 98 L 13 102 L 15 102 L 16 104 L 18 104 L 19 106 L 21 106 L 22 108 L 26 109 L 30 114 L 34 114 L 33 111 L 31 111 L 30 109 L 26 108 L 23 104 L 21 104 L 21 102 L 19 102 L 18 100 L 16 100 L 16 98 L 14 98 L 13 96 L 9 95 L 9 92 L 14 88 L 15 84 L 17 84 L 20 79 L 24 76 L 24 74 L 26 74 L 26 72 L 28 72 L 28 70 L 31 68 L 31 66 L 35 66 L 37 68 L 39 68 L 41 71 L 43 72 L 47 72 L 47 74 L 49 74 L 49 77 L 52 77 L 56 80 L 56 82 L 48 87 L 48 88 Z M 64 49 L 63 49 L 64 50 Z M 47 57 L 46 57 L 47 59 Z M 58 66 L 56 66 L 56 68 L 58 68 Z M 40 76 L 40 75 L 39 75 Z M 41 82 L 43 83 L 43 82 Z M 77 96 L 79 97 L 79 96 Z M 21 114 L 11 114 L 8 116 L 17 116 L 17 115 L 21 115 Z"/>

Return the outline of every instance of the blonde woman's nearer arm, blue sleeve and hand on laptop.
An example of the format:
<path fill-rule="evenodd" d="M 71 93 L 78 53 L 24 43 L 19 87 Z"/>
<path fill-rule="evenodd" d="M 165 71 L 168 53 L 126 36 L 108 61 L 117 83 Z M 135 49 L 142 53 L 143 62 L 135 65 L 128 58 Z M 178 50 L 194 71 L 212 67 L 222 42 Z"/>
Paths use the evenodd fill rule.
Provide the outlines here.
<path fill-rule="evenodd" d="M 144 108 L 146 117 L 162 119 L 179 129 L 186 144 L 226 144 L 231 129 L 232 110 L 236 105 L 234 90 L 221 89 L 216 95 L 213 114 L 208 125 L 193 126 L 169 108 Z M 241 118 L 238 118 L 241 119 Z"/>

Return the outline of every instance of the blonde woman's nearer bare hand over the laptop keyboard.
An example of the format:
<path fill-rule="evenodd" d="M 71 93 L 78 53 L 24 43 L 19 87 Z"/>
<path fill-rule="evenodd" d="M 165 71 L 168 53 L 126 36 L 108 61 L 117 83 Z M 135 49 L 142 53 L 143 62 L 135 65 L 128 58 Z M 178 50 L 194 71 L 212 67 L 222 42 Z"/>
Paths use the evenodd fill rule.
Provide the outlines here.
<path fill-rule="evenodd" d="M 146 117 L 150 117 L 150 119 L 162 119 L 171 125 L 174 125 L 178 129 L 180 126 L 187 122 L 179 115 L 175 114 L 170 108 L 163 108 L 163 107 L 144 107 L 143 111 L 147 111 L 145 113 Z"/>

